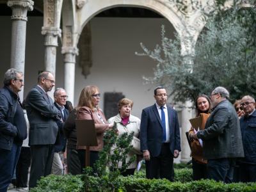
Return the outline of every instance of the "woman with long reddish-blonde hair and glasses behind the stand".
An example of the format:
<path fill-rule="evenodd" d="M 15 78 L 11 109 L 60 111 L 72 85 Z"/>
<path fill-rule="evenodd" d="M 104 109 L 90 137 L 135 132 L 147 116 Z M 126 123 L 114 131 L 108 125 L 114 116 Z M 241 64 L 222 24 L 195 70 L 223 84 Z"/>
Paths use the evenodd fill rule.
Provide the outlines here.
<path fill-rule="evenodd" d="M 77 120 L 94 120 L 95 123 L 98 145 L 90 147 L 91 167 L 99 159 L 99 151 L 103 148 L 104 132 L 113 127 L 113 124 L 108 124 L 106 121 L 103 111 L 99 108 L 99 101 L 99 88 L 90 85 L 83 88 L 77 105 Z M 86 146 L 77 146 L 82 168 L 84 168 L 85 149 Z"/>

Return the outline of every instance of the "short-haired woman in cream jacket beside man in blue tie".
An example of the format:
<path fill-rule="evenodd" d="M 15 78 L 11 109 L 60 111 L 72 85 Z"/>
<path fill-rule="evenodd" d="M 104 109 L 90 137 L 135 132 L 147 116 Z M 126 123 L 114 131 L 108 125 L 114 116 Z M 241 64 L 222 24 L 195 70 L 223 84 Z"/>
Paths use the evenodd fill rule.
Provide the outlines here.
<path fill-rule="evenodd" d="M 118 134 L 124 134 L 125 132 L 131 134 L 133 132 L 133 136 L 135 137 L 134 139 L 137 140 L 140 134 L 140 118 L 131 115 L 132 106 L 132 100 L 126 98 L 121 99 L 118 102 L 118 115 L 109 118 L 108 122 L 111 124 L 113 124 L 113 122 L 116 122 Z M 129 154 L 127 154 L 126 161 L 129 161 L 129 159 L 131 159 L 134 154 L 139 155 L 141 154 L 141 152 L 139 150 L 135 150 L 134 147 L 134 149 L 130 151 Z M 132 164 L 130 164 L 127 170 L 122 173 L 122 175 L 133 175 L 136 166 L 137 161 L 134 161 Z"/>

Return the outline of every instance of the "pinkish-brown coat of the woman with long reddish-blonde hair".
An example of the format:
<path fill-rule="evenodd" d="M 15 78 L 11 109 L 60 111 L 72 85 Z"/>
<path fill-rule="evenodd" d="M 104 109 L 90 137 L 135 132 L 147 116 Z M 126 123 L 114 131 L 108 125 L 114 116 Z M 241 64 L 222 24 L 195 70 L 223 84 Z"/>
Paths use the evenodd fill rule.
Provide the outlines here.
<path fill-rule="evenodd" d="M 102 124 L 102 121 L 100 120 L 97 113 L 99 113 L 101 118 L 104 120 L 105 124 Z M 108 130 L 108 122 L 105 118 L 104 113 L 101 111 L 101 109 L 99 109 L 98 111 L 92 111 L 92 109 L 84 106 L 84 107 L 78 109 L 76 117 L 78 120 L 83 120 L 83 119 L 94 120 L 98 146 L 91 146 L 90 150 L 93 150 L 93 151 L 102 150 L 103 134 L 105 131 Z M 77 149 L 86 149 L 86 146 L 77 146 Z"/>

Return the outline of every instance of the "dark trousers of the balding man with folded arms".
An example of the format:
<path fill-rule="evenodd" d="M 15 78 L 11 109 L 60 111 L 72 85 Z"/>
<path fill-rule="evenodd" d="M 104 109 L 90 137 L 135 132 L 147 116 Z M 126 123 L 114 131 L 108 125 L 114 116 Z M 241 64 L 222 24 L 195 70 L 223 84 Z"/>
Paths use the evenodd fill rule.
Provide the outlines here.
<path fill-rule="evenodd" d="M 54 145 L 32 145 L 31 170 L 29 177 L 29 188 L 36 187 L 36 181 L 40 177 L 51 174 Z"/>

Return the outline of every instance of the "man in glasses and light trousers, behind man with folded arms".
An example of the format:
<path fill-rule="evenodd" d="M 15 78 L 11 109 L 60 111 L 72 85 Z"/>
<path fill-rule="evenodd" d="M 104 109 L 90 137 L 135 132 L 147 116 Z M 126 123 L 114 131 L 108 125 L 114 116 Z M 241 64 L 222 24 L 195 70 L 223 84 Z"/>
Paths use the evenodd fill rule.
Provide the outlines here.
<path fill-rule="evenodd" d="M 59 132 L 57 136 L 57 140 L 54 146 L 54 157 L 52 163 L 52 174 L 54 175 L 63 175 L 63 164 L 61 161 L 61 157 L 64 157 L 64 152 L 66 149 L 66 138 L 64 136 L 64 122 L 68 118 L 68 110 L 65 109 L 65 104 L 67 101 L 67 93 L 63 88 L 56 88 L 53 93 L 54 95 L 54 106 L 60 111 L 61 113 L 61 120 L 57 122 L 59 127 Z"/>

